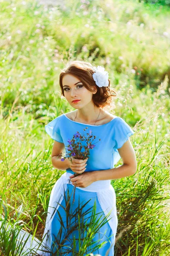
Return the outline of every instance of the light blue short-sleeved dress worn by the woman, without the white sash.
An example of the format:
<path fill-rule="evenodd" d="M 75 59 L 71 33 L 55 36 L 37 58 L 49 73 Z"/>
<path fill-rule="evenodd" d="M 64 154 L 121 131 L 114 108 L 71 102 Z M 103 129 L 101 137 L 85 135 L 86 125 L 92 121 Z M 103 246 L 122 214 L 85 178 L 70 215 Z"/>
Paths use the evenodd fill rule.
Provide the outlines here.
<path fill-rule="evenodd" d="M 86 127 L 87 129 L 85 129 Z M 76 134 L 77 131 L 84 135 L 91 132 L 93 136 L 96 136 L 96 139 L 93 141 L 95 147 L 93 149 L 90 149 L 90 155 L 88 157 L 85 172 L 107 170 L 114 168 L 114 165 L 121 158 L 119 155 L 118 148 L 121 148 L 122 145 L 128 140 L 128 137 L 135 133 L 130 128 L 130 126 L 119 116 L 115 116 L 114 119 L 112 119 L 110 122 L 104 125 L 89 125 L 80 122 L 75 122 L 69 119 L 65 114 L 58 116 L 57 118 L 49 122 L 47 125 L 45 125 L 45 131 L 51 136 L 53 140 L 56 140 L 60 143 L 64 143 L 65 147 L 69 145 L 68 141 L 73 138 L 73 135 Z M 82 142 L 82 145 L 86 145 L 85 142 L 84 144 Z M 67 150 L 67 147 L 65 148 L 65 151 L 65 156 L 68 156 L 69 151 Z M 71 174 L 74 175 L 74 172 L 70 168 L 66 169 L 66 173 L 67 172 L 70 174 L 69 176 L 71 176 Z M 104 182 L 104 180 L 100 182 Z M 66 202 L 68 202 L 68 199 L 70 199 L 70 202 L 73 202 L 74 185 L 72 183 L 67 183 L 66 188 L 66 197 L 63 198 L 61 203 L 58 205 L 58 209 L 55 212 L 55 215 L 51 222 L 52 239 L 50 243 L 51 252 L 55 253 L 57 252 L 57 250 L 59 250 L 59 252 L 63 253 L 61 255 L 73 256 L 77 255 L 76 251 L 79 252 L 79 250 L 81 249 L 82 244 L 80 243 L 83 242 L 83 237 L 87 235 L 87 231 L 85 230 L 84 233 L 82 232 L 80 234 L 77 228 L 73 230 L 69 236 L 67 236 L 68 234 L 66 232 L 66 227 L 68 227 L 68 219 L 66 218 L 65 207 Z M 75 201 L 74 204 L 71 203 L 69 214 L 71 215 L 75 213 L 75 211 L 79 208 L 81 204 L 81 206 L 84 206 L 82 213 L 87 212 L 87 214 L 85 215 L 85 221 L 89 224 L 92 215 L 91 207 L 94 207 L 94 204 L 96 204 L 96 214 L 98 213 L 98 217 L 103 216 L 104 218 L 105 213 L 102 210 L 102 202 L 99 202 L 99 197 L 97 195 L 99 195 L 97 192 L 85 191 L 83 190 L 83 188 L 76 187 Z M 54 197 L 54 195 L 51 195 L 51 197 L 52 196 Z M 106 204 L 108 198 L 103 198 L 103 201 L 105 201 L 103 202 L 103 204 Z M 91 209 L 91 211 L 89 211 L 89 209 Z M 111 222 L 106 222 L 102 227 L 100 227 L 98 232 L 96 232 L 96 235 L 93 237 L 91 245 L 89 245 L 86 248 L 84 256 L 88 255 L 88 253 L 93 253 L 94 255 L 100 254 L 101 256 L 105 256 L 108 249 L 108 256 L 114 255 L 114 242 L 116 236 L 115 230 L 117 228 L 117 215 L 115 214 L 115 212 L 116 199 L 114 203 L 114 218 L 112 220 L 112 228 Z M 75 216 L 74 218 L 71 219 L 71 223 L 69 224 L 70 226 L 74 226 L 74 223 L 77 222 L 76 218 L 77 217 Z M 62 233 L 60 233 L 59 231 L 61 227 L 61 219 L 62 227 L 64 230 L 62 231 Z M 73 252 L 71 248 L 73 248 L 74 236 L 76 241 L 76 251 Z M 79 240 L 80 236 L 81 241 Z M 65 239 L 64 243 L 63 239 Z M 60 241 L 62 241 L 62 246 L 60 246 L 58 249 Z M 102 242 L 104 243 L 102 244 Z M 99 246 L 99 244 L 102 244 L 102 246 Z M 96 247 L 96 245 L 98 245 L 98 249 L 94 250 L 93 248 Z"/>

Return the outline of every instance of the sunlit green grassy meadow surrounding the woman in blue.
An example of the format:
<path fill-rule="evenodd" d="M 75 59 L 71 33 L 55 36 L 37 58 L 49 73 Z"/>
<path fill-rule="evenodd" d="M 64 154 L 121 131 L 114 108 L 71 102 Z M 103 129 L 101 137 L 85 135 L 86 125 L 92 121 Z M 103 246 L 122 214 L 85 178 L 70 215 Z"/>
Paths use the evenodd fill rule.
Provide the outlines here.
<path fill-rule="evenodd" d="M 170 255 L 170 7 L 146 2 L 0 2 L 0 255 L 21 255 L 21 228 L 42 239 L 51 189 L 65 172 L 51 164 L 44 126 L 74 110 L 59 89 L 71 60 L 105 67 L 117 92 L 110 113 L 135 131 L 137 172 L 112 180 L 115 256 Z"/>

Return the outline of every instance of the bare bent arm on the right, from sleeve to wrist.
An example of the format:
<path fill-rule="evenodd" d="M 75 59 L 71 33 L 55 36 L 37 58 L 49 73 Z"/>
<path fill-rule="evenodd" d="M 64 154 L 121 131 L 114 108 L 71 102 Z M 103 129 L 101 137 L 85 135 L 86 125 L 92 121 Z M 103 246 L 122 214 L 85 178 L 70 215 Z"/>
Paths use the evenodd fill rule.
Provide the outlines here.
<path fill-rule="evenodd" d="M 133 146 L 128 139 L 122 146 L 118 148 L 123 164 L 119 167 L 92 172 L 94 181 L 97 180 L 116 180 L 135 174 L 137 170 L 136 155 Z"/>

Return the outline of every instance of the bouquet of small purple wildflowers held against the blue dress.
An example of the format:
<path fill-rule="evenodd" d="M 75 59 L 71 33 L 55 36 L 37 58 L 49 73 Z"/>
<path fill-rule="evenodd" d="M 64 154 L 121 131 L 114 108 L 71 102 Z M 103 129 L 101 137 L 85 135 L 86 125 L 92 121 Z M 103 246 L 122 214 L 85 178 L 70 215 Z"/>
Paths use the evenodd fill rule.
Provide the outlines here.
<path fill-rule="evenodd" d="M 88 127 L 86 127 L 83 130 L 85 131 L 86 129 L 88 129 Z M 68 156 L 67 156 L 68 160 L 70 160 L 71 163 L 72 163 L 72 158 L 85 160 L 90 154 L 90 149 L 93 149 L 95 147 L 94 144 L 97 143 L 97 142 L 93 143 L 93 141 L 95 139 L 96 139 L 96 136 L 92 135 L 92 130 L 89 130 L 89 133 L 87 133 L 86 137 L 85 137 L 84 133 L 82 135 L 81 133 L 79 133 L 77 131 L 76 134 L 73 135 L 72 140 L 68 139 L 69 145 L 66 146 L 67 150 L 69 151 L 69 152 L 66 151 L 68 154 Z M 85 141 L 86 145 L 82 145 L 82 143 L 81 143 L 82 141 Z M 61 161 L 64 161 L 65 158 L 66 158 L 66 156 L 61 157 Z M 74 173 L 74 176 L 78 176 L 81 174 L 82 173 L 80 173 L 80 174 Z M 74 197 L 75 197 L 75 188 L 76 187 L 74 186 Z"/>

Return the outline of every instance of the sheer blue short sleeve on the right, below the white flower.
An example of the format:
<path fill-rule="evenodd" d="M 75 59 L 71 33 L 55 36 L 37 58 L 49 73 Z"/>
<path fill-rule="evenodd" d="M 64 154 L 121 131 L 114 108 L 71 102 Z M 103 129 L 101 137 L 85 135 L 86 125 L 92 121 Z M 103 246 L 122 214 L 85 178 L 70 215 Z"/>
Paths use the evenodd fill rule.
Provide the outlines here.
<path fill-rule="evenodd" d="M 128 138 L 135 132 L 130 126 L 120 117 L 114 129 L 114 148 L 122 148 L 122 145 L 128 140 Z"/>

